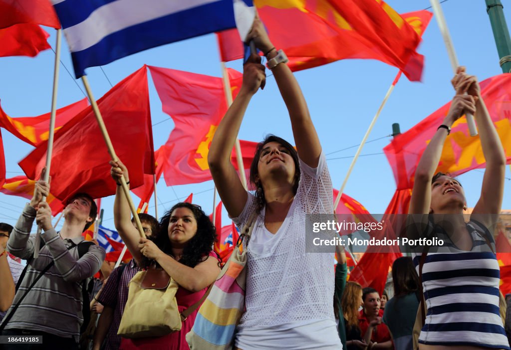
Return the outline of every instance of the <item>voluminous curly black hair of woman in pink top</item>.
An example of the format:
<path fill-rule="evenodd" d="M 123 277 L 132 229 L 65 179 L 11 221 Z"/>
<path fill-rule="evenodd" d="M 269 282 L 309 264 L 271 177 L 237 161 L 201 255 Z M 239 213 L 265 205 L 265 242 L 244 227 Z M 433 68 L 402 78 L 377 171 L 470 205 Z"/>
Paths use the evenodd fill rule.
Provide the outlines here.
<path fill-rule="evenodd" d="M 183 265 L 195 267 L 198 263 L 207 259 L 213 244 L 217 240 L 215 226 L 201 207 L 190 203 L 178 203 L 173 206 L 163 217 L 160 218 L 159 231 L 153 241 L 165 254 L 172 256 L 172 243 L 169 239 L 170 217 L 177 208 L 188 208 L 197 221 L 197 233 L 186 244 L 183 255 L 179 262 Z M 147 261 L 145 261 L 147 266 Z"/>

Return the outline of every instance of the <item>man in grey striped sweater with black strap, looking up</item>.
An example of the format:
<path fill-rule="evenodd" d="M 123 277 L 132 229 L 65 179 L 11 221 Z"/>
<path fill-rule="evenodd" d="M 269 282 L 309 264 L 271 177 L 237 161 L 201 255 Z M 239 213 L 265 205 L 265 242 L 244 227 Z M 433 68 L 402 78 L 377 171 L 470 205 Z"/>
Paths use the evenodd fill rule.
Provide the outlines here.
<path fill-rule="evenodd" d="M 78 349 L 84 319 L 82 286 L 105 259 L 103 248 L 82 243 L 82 232 L 92 224 L 98 209 L 88 194 L 75 194 L 64 208 L 64 224 L 57 233 L 50 206 L 41 202 L 49 190 L 48 183 L 36 182 L 34 195 L 7 242 L 8 251 L 27 260 L 28 268 L 0 330 L 4 336 L 40 336 L 38 349 Z M 32 259 L 35 235 L 30 235 L 34 219 L 43 230 L 37 259 Z M 4 344 L 4 349 L 11 346 L 31 349 L 33 345 Z"/>

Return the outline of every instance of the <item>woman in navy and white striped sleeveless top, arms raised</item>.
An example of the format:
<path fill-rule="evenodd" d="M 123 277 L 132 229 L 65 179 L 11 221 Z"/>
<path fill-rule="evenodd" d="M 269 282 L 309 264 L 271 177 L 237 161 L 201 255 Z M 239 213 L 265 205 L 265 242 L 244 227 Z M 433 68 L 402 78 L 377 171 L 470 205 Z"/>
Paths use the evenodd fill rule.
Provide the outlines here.
<path fill-rule="evenodd" d="M 502 204 L 506 158 L 476 78 L 460 67 L 452 84 L 456 95 L 417 165 L 410 201 L 410 214 L 427 214 L 423 234 L 445 242 L 426 253 L 422 267 L 427 313 L 419 349 L 509 349 L 499 315 L 500 271 L 491 234 Z M 450 127 L 464 113 L 475 114 L 486 159 L 481 197 L 468 223 L 460 183 L 442 173 L 433 177 Z M 418 252 L 417 269 L 420 258 Z"/>

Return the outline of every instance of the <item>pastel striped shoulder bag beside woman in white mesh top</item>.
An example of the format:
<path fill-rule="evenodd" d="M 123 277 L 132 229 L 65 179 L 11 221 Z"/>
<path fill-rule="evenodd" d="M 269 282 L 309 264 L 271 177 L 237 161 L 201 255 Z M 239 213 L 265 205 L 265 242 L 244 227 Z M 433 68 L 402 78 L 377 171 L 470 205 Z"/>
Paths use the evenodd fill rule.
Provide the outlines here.
<path fill-rule="evenodd" d="M 191 350 L 231 350 L 236 326 L 245 311 L 246 247 L 257 214 L 250 215 L 240 238 L 225 263 L 187 334 Z"/>

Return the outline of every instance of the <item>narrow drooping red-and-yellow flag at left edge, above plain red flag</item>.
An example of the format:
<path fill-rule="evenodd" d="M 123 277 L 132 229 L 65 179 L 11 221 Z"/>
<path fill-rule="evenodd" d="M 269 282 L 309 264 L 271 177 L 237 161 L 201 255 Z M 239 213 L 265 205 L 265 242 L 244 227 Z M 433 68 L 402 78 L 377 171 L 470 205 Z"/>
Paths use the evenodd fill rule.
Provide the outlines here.
<path fill-rule="evenodd" d="M 66 122 L 73 119 L 87 106 L 87 98 L 84 98 L 74 104 L 58 109 L 55 116 L 55 131 L 62 128 Z M 37 146 L 42 141 L 48 140 L 50 116 L 51 113 L 46 113 L 37 117 L 11 118 L 0 107 L 0 127 L 5 128 L 20 140 Z"/>

